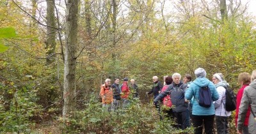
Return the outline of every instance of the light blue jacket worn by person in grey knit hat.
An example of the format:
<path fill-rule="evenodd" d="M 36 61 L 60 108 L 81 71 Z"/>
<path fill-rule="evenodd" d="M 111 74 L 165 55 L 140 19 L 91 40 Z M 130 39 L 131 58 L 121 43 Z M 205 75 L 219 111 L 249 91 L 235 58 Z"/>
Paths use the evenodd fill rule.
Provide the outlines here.
<path fill-rule="evenodd" d="M 193 100 L 193 107 L 192 107 L 192 114 L 193 115 L 214 115 L 215 114 L 215 109 L 214 105 L 212 103 L 211 107 L 205 108 L 201 107 L 198 104 L 199 100 L 199 89 L 200 87 L 205 87 L 209 86 L 211 93 L 212 93 L 212 101 L 216 101 L 219 99 L 219 94 L 216 90 L 216 87 L 214 84 L 208 80 L 205 77 L 198 77 L 196 78 L 189 86 L 189 88 L 185 92 L 185 98 L 187 100 L 191 100 L 191 98 L 194 96 Z"/>

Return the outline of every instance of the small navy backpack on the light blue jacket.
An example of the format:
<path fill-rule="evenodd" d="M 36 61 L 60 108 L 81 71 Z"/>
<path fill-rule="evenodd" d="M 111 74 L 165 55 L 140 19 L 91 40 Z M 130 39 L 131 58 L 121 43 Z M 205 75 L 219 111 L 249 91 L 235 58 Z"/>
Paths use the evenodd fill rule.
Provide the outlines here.
<path fill-rule="evenodd" d="M 200 87 L 199 89 L 199 101 L 198 104 L 201 107 L 209 108 L 212 105 L 212 94 L 209 86 Z"/>

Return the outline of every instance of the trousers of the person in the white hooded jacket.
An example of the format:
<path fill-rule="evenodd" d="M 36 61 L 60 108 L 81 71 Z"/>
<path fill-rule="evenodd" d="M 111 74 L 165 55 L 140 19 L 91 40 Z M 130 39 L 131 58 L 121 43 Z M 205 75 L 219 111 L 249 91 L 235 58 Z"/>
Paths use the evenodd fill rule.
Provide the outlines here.
<path fill-rule="evenodd" d="M 216 127 L 218 134 L 228 134 L 228 117 L 216 116 Z"/>

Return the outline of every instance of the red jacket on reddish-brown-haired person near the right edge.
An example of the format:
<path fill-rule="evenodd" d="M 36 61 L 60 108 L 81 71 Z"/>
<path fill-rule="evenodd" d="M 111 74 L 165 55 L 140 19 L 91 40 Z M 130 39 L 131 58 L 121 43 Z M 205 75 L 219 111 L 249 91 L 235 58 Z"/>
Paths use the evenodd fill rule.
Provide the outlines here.
<path fill-rule="evenodd" d="M 236 126 L 237 126 L 237 118 L 238 118 L 238 113 L 239 113 L 239 106 L 243 97 L 243 93 L 244 93 L 244 88 L 247 87 L 248 85 L 243 85 L 241 87 L 241 89 L 239 89 L 239 91 L 237 92 L 237 96 L 236 96 Z M 248 122 L 249 122 L 249 117 L 250 117 L 250 112 L 251 112 L 251 107 L 248 107 L 248 111 L 246 113 L 246 117 L 244 120 L 244 126 L 248 126 Z"/>

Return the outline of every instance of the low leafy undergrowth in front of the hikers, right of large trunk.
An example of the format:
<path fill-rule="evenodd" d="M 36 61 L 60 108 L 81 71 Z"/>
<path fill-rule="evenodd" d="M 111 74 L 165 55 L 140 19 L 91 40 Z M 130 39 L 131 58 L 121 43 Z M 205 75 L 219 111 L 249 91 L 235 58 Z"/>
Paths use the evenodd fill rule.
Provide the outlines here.
<path fill-rule="evenodd" d="M 173 121 L 159 120 L 152 105 L 142 105 L 138 98 L 129 98 L 129 108 L 107 112 L 92 94 L 84 110 L 77 110 L 76 117 L 59 119 L 65 133 L 174 133 Z"/>

